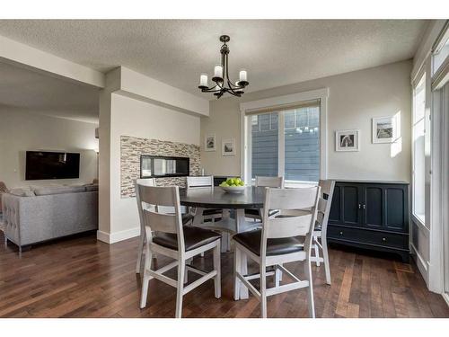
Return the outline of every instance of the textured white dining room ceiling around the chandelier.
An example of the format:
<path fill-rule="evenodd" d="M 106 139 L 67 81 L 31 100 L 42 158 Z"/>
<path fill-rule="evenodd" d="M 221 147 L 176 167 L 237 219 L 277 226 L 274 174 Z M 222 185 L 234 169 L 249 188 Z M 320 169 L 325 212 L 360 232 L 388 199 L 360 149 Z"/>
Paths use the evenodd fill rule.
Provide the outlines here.
<path fill-rule="evenodd" d="M 257 91 L 412 58 L 422 20 L 0 21 L 0 35 L 101 71 L 119 65 L 200 97 L 231 36 L 230 75 Z"/>

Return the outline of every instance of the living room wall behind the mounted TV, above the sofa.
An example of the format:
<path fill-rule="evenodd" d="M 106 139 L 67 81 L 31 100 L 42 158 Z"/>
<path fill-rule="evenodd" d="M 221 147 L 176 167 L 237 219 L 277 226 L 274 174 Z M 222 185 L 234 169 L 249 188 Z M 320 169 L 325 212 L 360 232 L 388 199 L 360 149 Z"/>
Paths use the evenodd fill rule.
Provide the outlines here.
<path fill-rule="evenodd" d="M 20 111 L 0 111 L 0 181 L 8 188 L 92 182 L 97 176 L 97 125 Z M 80 178 L 25 181 L 25 151 L 79 152 Z"/>

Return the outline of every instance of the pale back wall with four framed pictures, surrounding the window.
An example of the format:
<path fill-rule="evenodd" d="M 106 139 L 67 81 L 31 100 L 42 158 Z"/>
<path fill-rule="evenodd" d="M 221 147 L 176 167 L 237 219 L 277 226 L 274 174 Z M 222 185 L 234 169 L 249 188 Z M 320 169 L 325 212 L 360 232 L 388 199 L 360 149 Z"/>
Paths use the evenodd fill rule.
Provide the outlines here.
<path fill-rule="evenodd" d="M 410 181 L 411 61 L 291 84 L 242 98 L 211 102 L 210 117 L 201 118 L 201 164 L 207 173 L 240 174 L 240 102 L 329 88 L 328 177 Z M 371 143 L 371 119 L 401 113 L 401 149 Z M 360 152 L 336 152 L 335 130 L 360 129 Z M 215 133 L 216 152 L 204 152 L 204 137 Z M 221 139 L 235 138 L 235 156 L 221 155 Z M 397 152 L 397 153 L 396 153 Z"/>

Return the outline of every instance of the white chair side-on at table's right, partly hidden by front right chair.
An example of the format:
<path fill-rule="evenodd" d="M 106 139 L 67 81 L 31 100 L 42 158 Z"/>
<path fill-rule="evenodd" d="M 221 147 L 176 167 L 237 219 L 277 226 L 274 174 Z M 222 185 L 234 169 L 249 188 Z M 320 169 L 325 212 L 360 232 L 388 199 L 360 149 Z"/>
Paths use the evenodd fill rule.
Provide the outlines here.
<path fill-rule="evenodd" d="M 314 256 L 312 262 L 315 262 L 319 267 L 320 262 L 324 263 L 324 270 L 326 273 L 326 283 L 330 284 L 330 263 L 328 252 L 328 221 L 330 214 L 330 206 L 332 202 L 332 196 L 335 188 L 335 181 L 321 180 L 319 182 L 321 187 L 320 200 L 318 202 L 318 214 L 316 219 L 315 228 L 313 230 L 313 250 Z M 322 251 L 322 257 L 320 257 L 320 250 Z"/>

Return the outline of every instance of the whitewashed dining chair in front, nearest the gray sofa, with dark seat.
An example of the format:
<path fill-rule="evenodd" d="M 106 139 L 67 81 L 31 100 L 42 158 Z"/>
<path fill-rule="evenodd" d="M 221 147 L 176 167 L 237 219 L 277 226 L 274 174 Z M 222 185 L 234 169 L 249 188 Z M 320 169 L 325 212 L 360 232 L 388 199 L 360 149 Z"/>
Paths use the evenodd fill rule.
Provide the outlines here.
<path fill-rule="evenodd" d="M 180 192 L 178 186 L 154 187 L 136 184 L 137 205 L 141 209 L 145 226 L 145 269 L 142 280 L 140 307 L 146 306 L 150 279 L 158 279 L 177 288 L 176 314 L 182 314 L 182 297 L 208 279 L 214 279 L 215 296 L 221 297 L 220 235 L 216 232 L 194 226 L 183 226 L 180 213 Z M 173 214 L 158 212 L 158 207 L 172 207 Z M 199 253 L 213 250 L 214 267 L 212 271 L 198 270 L 186 263 Z M 152 269 L 152 255 L 162 254 L 174 262 L 158 269 Z M 187 265 L 186 265 L 187 264 Z M 178 268 L 177 279 L 163 275 L 166 271 Z M 201 275 L 199 279 L 184 285 L 184 275 L 192 271 Z"/>

